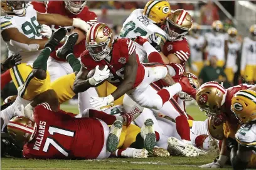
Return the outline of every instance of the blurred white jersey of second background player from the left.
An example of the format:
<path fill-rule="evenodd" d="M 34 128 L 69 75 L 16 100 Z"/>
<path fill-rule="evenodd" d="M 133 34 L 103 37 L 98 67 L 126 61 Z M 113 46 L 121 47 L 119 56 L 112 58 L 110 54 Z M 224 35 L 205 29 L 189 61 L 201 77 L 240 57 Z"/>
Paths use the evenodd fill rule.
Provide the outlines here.
<path fill-rule="evenodd" d="M 207 32 L 205 34 L 205 39 L 208 42 L 208 55 L 216 56 L 218 60 L 225 61 L 225 40 L 227 39 L 227 34 L 215 35 L 213 32 Z"/>

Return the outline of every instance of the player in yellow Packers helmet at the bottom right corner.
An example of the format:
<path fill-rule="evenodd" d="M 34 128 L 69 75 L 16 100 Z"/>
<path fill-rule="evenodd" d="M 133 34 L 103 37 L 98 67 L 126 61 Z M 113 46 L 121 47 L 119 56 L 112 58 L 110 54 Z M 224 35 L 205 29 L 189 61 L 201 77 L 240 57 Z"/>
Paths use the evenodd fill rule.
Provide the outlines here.
<path fill-rule="evenodd" d="M 238 147 L 233 144 L 230 160 L 235 170 L 256 168 L 256 92 L 238 91 L 232 98 L 232 111 L 243 125 L 238 129 L 235 138 Z"/>

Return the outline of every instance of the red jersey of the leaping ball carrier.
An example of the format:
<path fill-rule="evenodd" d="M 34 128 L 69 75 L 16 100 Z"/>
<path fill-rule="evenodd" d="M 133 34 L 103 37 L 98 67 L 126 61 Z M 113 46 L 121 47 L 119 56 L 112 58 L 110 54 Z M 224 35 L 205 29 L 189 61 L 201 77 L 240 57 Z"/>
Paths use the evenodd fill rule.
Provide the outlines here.
<path fill-rule="evenodd" d="M 124 70 L 125 64 L 129 60 L 129 56 L 135 52 L 135 44 L 131 39 L 128 38 L 120 38 L 117 39 L 116 42 L 113 44 L 112 48 L 112 56 L 110 62 L 108 63 L 105 60 L 102 61 L 95 61 L 90 56 L 89 52 L 86 50 L 84 51 L 80 58 L 82 66 L 87 68 L 89 71 L 94 69 L 97 65 L 99 66 L 109 66 L 110 75 L 107 81 L 109 83 L 114 84 L 114 86 L 119 86 L 124 80 Z M 139 84 L 141 84 L 142 80 L 144 79 L 145 69 L 144 66 L 139 62 L 139 57 L 136 54 L 138 68 L 137 68 L 137 76 L 136 81 L 134 83 L 133 88 L 136 88 Z M 136 74 L 136 73 L 131 73 Z"/>

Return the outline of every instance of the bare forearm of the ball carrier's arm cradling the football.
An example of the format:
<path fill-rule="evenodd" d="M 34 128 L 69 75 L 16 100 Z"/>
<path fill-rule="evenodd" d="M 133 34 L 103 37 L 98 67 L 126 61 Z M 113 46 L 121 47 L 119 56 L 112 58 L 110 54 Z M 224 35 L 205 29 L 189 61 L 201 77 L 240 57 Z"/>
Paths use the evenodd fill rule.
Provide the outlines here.
<path fill-rule="evenodd" d="M 75 82 L 73 85 L 74 93 L 81 93 L 83 91 L 87 91 L 88 88 L 92 87 L 87 79 L 88 73 L 89 71 L 82 66 L 75 78 Z"/>

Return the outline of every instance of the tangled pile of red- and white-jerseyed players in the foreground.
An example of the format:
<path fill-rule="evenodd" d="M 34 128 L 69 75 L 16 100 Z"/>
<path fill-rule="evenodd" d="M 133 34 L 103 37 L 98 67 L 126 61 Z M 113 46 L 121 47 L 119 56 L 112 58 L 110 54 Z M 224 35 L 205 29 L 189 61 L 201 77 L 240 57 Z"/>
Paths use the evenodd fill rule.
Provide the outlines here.
<path fill-rule="evenodd" d="M 24 1 L 1 1 L 9 56 L 21 54 L 10 69 L 18 96 L 1 107 L 1 131 L 9 134 L 1 151 L 39 159 L 193 157 L 220 140 L 220 157 L 202 168 L 222 168 L 229 155 L 234 167 L 255 166 L 256 86 L 200 86 L 184 72 L 187 11 L 149 1 L 114 39 L 85 4 L 50 1 L 43 14 Z M 61 27 L 52 33 L 51 25 Z M 62 111 L 75 94 L 79 114 Z M 193 121 L 184 106 L 191 99 L 210 118 Z"/>

